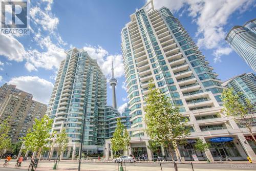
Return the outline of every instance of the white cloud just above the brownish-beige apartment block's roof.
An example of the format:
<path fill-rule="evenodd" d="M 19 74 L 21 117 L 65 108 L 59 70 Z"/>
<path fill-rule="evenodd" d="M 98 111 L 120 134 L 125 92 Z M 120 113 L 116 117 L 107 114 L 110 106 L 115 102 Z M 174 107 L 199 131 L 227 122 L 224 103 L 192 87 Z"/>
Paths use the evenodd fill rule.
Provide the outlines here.
<path fill-rule="evenodd" d="M 53 89 L 51 82 L 37 76 L 13 77 L 8 84 L 14 84 L 17 89 L 31 93 L 33 99 L 45 104 L 48 104 Z"/>

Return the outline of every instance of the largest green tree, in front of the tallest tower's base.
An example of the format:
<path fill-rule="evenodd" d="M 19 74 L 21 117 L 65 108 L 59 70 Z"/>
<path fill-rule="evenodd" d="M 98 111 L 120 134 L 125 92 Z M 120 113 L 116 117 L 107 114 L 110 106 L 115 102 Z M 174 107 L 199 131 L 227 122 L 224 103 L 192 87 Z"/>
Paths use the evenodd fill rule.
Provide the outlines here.
<path fill-rule="evenodd" d="M 189 135 L 186 119 L 179 113 L 178 106 L 174 106 L 152 82 L 149 83 L 149 91 L 144 108 L 146 133 L 151 140 L 170 149 L 174 159 L 177 144 Z"/>

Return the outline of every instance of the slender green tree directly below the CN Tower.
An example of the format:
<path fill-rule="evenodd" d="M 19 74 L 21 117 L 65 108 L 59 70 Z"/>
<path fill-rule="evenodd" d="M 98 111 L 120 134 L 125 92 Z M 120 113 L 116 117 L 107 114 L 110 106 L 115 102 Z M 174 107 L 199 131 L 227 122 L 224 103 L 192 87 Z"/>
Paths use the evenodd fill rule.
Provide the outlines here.
<path fill-rule="evenodd" d="M 113 134 L 113 138 L 111 138 L 111 145 L 114 152 L 118 152 L 120 150 L 126 150 L 129 145 L 131 137 L 127 132 L 124 125 L 121 123 L 121 119 L 117 119 L 116 129 Z"/>

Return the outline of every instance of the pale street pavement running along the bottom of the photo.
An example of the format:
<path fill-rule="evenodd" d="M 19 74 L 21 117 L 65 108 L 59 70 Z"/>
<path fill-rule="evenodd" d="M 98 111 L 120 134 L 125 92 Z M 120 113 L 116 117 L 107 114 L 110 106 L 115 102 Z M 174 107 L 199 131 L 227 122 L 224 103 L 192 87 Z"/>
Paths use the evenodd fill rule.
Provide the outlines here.
<path fill-rule="evenodd" d="M 0 165 L 2 166 L 3 160 L 0 161 Z M 29 165 L 29 161 L 25 161 L 20 168 L 14 168 L 15 162 L 10 162 L 8 167 L 0 167 L 0 170 L 27 170 Z M 119 164 L 120 165 L 120 164 Z M 163 163 L 162 170 L 163 171 L 170 171 L 174 170 L 173 163 Z M 53 161 L 39 161 L 39 167 L 36 170 L 52 170 L 53 168 Z M 78 162 L 75 161 L 60 161 L 58 164 L 58 170 L 77 170 Z M 145 170 L 145 171 L 161 171 L 159 163 L 125 163 L 123 164 L 126 171 L 137 171 L 137 170 Z M 195 171 L 214 171 L 214 170 L 221 170 L 221 171 L 228 171 L 228 170 L 256 170 L 256 164 L 247 164 L 247 163 L 193 163 Z M 192 171 L 191 164 L 178 164 L 179 171 Z M 118 170 L 118 165 L 116 163 L 103 163 L 103 162 L 82 162 L 81 170 L 84 171 L 114 171 Z M 124 169 L 125 170 L 125 169 Z"/>

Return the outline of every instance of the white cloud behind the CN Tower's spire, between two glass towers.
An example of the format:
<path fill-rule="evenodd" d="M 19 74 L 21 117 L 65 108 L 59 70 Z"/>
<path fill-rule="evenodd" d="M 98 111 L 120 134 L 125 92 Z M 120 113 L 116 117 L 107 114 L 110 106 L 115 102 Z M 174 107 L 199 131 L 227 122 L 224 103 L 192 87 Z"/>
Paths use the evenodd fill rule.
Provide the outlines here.
<path fill-rule="evenodd" d="M 116 78 L 123 76 L 124 71 L 122 55 L 109 55 L 109 52 L 103 49 L 101 46 L 94 47 L 88 45 L 83 47 L 83 49 L 86 50 L 92 58 L 97 59 L 98 65 L 106 77 L 111 77 L 112 58 L 114 63 L 114 76 Z"/>

